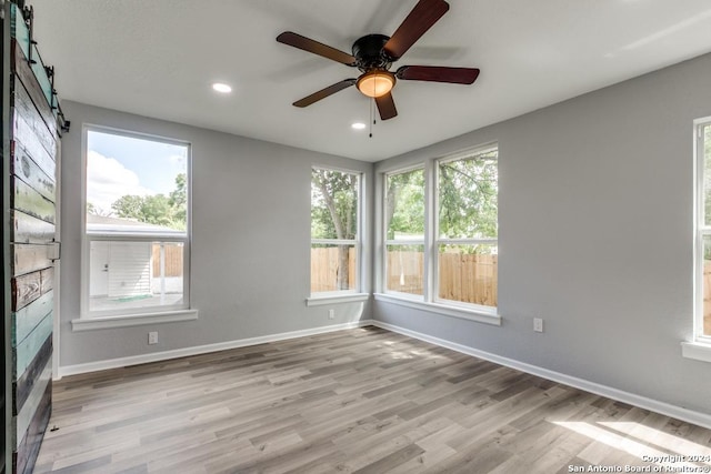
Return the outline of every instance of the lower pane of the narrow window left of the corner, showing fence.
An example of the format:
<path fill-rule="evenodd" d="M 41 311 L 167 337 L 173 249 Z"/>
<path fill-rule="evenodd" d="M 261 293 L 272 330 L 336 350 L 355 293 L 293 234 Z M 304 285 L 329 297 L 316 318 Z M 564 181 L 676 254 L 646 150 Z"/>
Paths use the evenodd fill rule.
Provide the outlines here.
<path fill-rule="evenodd" d="M 356 245 L 311 245 L 311 293 L 356 290 Z"/>

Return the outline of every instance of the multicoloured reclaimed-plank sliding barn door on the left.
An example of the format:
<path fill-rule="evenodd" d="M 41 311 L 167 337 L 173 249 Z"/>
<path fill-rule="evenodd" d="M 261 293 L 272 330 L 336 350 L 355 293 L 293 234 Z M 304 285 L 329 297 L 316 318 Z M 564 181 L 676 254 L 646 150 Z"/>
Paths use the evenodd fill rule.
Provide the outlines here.
<path fill-rule="evenodd" d="M 51 414 L 58 117 L 42 64 L 16 4 L 3 8 L 2 209 L 6 472 L 29 473 Z"/>

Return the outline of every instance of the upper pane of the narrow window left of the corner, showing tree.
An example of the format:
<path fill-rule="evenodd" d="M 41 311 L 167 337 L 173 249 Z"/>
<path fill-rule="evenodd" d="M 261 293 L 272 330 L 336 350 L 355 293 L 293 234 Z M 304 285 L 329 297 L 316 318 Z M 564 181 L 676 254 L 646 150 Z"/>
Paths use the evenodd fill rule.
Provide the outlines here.
<path fill-rule="evenodd" d="M 311 173 L 311 238 L 356 239 L 358 175 L 313 169 Z"/>

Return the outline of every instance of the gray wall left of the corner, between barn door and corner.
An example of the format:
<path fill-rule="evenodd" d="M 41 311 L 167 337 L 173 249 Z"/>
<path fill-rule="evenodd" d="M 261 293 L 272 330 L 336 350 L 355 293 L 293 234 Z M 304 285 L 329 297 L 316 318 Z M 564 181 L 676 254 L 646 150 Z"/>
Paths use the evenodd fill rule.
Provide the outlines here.
<path fill-rule="evenodd" d="M 72 130 L 62 139 L 61 366 L 370 317 L 369 304 L 361 313 L 361 304 L 307 307 L 304 300 L 309 295 L 311 167 L 362 171 L 370 190 L 371 163 L 76 102 L 62 105 Z M 70 321 L 80 312 L 83 123 L 191 142 L 190 297 L 199 320 L 72 332 Z M 328 319 L 329 307 L 336 310 L 334 320 Z M 159 331 L 159 344 L 147 344 L 149 331 Z"/>

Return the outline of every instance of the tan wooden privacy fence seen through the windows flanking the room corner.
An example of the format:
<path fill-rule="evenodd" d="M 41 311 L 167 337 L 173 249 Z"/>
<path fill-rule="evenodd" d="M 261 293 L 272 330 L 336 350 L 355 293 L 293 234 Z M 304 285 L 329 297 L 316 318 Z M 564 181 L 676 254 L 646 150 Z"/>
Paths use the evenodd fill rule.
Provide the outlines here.
<path fill-rule="evenodd" d="M 498 255 L 440 254 L 439 297 L 465 303 L 497 305 Z M 388 252 L 388 289 L 422 294 L 423 253 Z M 311 291 L 338 289 L 338 248 L 311 249 Z M 349 251 L 348 281 L 356 282 L 356 251 Z"/>

